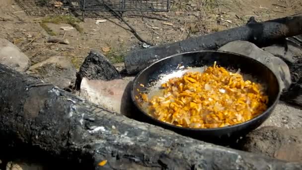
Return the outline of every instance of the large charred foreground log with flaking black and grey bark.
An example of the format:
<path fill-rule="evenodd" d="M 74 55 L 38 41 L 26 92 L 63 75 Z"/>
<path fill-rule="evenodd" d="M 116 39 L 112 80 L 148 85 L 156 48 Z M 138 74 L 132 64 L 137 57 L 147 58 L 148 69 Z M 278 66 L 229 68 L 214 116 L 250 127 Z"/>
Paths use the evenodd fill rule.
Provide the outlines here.
<path fill-rule="evenodd" d="M 81 163 L 85 170 L 302 169 L 302 163 L 212 145 L 111 113 L 4 65 L 0 139 Z"/>

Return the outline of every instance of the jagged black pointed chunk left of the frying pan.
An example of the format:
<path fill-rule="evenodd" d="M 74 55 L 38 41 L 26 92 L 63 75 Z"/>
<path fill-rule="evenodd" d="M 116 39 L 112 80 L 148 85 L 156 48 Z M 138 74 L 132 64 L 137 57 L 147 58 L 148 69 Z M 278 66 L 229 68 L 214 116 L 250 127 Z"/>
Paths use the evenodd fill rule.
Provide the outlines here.
<path fill-rule="evenodd" d="M 109 81 L 120 79 L 121 75 L 99 50 L 91 50 L 76 76 L 77 89 L 80 87 L 83 78 Z"/>

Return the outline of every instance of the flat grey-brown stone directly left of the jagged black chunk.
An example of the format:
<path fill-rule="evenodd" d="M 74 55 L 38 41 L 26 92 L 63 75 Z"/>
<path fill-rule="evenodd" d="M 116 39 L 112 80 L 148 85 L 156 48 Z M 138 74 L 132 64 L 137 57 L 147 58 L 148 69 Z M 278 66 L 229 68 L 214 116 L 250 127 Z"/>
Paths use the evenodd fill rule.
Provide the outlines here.
<path fill-rule="evenodd" d="M 41 63 L 37 63 L 26 72 L 60 88 L 69 88 L 74 85 L 76 69 L 67 58 L 53 56 Z"/>

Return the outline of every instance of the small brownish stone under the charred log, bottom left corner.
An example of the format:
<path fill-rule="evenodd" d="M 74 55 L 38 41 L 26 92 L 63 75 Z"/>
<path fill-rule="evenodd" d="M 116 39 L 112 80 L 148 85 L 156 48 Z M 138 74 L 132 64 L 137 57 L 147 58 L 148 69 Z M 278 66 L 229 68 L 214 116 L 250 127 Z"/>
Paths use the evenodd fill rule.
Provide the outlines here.
<path fill-rule="evenodd" d="M 29 164 L 22 161 L 11 161 L 7 163 L 6 170 L 44 170 L 44 168 L 38 164 Z"/>

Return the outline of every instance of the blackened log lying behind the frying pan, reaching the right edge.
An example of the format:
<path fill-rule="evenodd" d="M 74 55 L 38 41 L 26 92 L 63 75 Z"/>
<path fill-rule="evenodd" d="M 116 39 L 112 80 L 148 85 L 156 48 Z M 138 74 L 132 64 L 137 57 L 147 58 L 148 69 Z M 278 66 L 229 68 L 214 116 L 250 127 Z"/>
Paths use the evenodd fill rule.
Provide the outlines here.
<path fill-rule="evenodd" d="M 159 59 L 178 53 L 217 50 L 228 42 L 236 40 L 250 41 L 261 47 L 299 34 L 302 34 L 302 14 L 265 22 L 250 20 L 246 25 L 225 31 L 132 51 L 124 58 L 125 67 L 128 74 L 135 74 Z"/>

